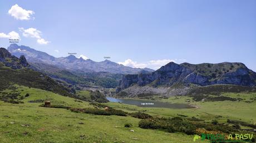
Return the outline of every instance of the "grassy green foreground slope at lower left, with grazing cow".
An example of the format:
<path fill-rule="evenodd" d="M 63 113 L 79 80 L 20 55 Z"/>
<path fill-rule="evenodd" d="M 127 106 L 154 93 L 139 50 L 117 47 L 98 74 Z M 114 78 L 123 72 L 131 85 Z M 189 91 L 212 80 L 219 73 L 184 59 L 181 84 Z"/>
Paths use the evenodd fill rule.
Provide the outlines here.
<path fill-rule="evenodd" d="M 1 142 L 191 142 L 193 136 L 141 129 L 140 119 L 130 116 L 102 116 L 73 113 L 66 109 L 43 108 L 29 101 L 50 99 L 54 104 L 78 108 L 92 107 L 50 91 L 18 86 L 24 104 L 0 101 Z M 7 90 L 5 90 L 8 92 Z M 132 127 L 124 127 L 130 122 Z M 130 130 L 134 130 L 131 132 Z"/>

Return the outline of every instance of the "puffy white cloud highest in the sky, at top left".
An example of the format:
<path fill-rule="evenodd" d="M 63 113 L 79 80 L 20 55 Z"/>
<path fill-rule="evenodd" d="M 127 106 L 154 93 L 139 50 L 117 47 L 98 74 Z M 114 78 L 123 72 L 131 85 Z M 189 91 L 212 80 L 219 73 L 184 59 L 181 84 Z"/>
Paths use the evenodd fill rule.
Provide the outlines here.
<path fill-rule="evenodd" d="M 29 20 L 30 16 L 35 12 L 27 11 L 26 9 L 19 7 L 18 4 L 15 4 L 11 7 L 11 9 L 9 9 L 8 13 L 18 20 Z"/>

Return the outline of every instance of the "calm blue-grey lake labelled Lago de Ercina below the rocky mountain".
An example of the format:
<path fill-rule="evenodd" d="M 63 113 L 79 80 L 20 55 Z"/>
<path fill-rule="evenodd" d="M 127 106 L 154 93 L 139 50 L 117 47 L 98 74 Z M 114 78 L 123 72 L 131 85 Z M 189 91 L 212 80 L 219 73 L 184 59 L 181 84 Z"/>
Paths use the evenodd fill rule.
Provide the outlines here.
<path fill-rule="evenodd" d="M 152 100 L 136 100 L 136 99 L 117 99 L 107 97 L 110 102 L 113 103 L 124 103 L 130 105 L 137 105 L 140 107 L 150 107 L 150 108 L 172 108 L 172 109 L 184 109 L 184 108 L 194 108 L 188 104 L 178 104 L 178 103 L 164 103 L 160 101 Z"/>

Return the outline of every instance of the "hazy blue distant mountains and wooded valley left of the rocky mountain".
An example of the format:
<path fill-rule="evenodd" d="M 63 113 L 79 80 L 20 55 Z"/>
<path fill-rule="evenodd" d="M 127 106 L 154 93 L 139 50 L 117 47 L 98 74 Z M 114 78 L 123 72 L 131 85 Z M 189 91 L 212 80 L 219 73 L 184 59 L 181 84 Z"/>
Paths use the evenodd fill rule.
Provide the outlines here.
<path fill-rule="evenodd" d="M 91 59 L 76 58 L 74 55 L 55 58 L 24 45 L 11 44 L 8 51 L 16 57 L 24 55 L 34 70 L 81 89 L 116 88 L 118 80 L 124 74 L 154 72 L 149 68 L 126 67 L 110 60 L 94 62 Z"/>

